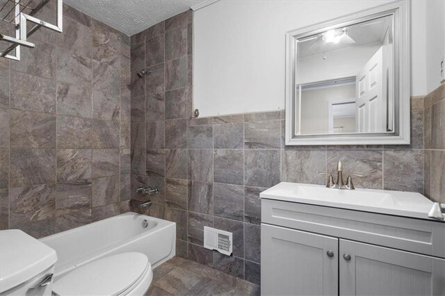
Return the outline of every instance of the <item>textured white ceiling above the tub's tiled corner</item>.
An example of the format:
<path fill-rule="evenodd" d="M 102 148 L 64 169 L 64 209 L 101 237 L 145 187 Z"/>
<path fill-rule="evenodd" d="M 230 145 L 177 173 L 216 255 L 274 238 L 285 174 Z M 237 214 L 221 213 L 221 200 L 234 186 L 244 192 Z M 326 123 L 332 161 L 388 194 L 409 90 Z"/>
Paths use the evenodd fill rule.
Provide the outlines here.
<path fill-rule="evenodd" d="M 64 0 L 116 30 L 134 35 L 203 0 Z"/>

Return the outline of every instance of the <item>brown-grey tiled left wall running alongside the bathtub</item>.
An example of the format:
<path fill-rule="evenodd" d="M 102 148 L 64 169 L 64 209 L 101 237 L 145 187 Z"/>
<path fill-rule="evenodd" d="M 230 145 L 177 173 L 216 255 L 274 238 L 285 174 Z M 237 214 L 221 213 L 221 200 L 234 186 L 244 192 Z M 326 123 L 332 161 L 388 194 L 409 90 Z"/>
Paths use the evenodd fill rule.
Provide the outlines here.
<path fill-rule="evenodd" d="M 0 229 L 36 238 L 129 208 L 129 37 L 63 17 L 0 58 Z"/>

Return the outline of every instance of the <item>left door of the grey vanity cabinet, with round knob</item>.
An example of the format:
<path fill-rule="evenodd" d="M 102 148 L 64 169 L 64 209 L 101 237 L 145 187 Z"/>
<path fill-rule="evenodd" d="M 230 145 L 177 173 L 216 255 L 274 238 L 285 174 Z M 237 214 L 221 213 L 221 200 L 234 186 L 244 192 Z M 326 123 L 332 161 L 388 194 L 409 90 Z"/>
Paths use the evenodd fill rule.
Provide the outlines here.
<path fill-rule="evenodd" d="M 338 241 L 261 224 L 261 294 L 338 295 Z"/>

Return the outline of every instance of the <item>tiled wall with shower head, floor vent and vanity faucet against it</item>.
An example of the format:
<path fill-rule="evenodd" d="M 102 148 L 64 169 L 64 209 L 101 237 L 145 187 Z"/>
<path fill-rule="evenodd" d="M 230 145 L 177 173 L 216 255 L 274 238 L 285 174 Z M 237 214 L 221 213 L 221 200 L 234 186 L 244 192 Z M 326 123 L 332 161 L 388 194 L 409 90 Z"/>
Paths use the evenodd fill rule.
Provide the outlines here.
<path fill-rule="evenodd" d="M 191 120 L 191 23 L 188 11 L 131 37 L 133 210 L 176 222 L 179 256 L 259 283 L 259 192 L 322 184 L 318 172 L 334 173 L 337 161 L 366 175 L 357 187 L 423 192 L 423 97 L 412 98 L 406 146 L 285 147 L 283 111 Z M 145 67 L 152 74 L 139 79 Z M 139 195 L 138 186 L 161 192 Z M 139 208 L 147 199 L 154 205 Z M 233 256 L 202 247 L 204 226 L 234 233 Z"/>

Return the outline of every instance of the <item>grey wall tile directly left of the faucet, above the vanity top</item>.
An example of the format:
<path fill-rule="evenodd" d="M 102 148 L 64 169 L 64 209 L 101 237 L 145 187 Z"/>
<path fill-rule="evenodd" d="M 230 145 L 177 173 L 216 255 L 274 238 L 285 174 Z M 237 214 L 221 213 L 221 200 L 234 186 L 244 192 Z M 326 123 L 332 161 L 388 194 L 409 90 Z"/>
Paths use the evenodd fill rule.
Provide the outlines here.
<path fill-rule="evenodd" d="M 337 156 L 336 156 L 337 157 Z M 284 150 L 282 155 L 282 180 L 295 183 L 323 184 L 326 177 L 325 150 Z"/>

